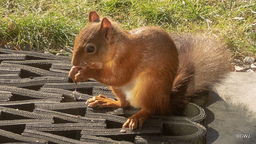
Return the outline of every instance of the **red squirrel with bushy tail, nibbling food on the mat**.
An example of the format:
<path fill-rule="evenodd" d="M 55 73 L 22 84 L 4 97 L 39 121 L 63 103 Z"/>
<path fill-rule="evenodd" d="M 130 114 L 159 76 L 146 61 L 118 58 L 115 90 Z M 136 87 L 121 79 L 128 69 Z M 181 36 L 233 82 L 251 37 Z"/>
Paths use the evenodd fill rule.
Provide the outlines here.
<path fill-rule="evenodd" d="M 86 102 L 98 108 L 141 110 L 123 128 L 141 127 L 155 112 L 173 114 L 197 92 L 209 90 L 228 71 L 224 44 L 204 36 L 168 34 L 156 26 L 123 30 L 91 11 L 74 42 L 69 77 L 94 78 L 110 86 L 118 101 L 103 95 Z"/>

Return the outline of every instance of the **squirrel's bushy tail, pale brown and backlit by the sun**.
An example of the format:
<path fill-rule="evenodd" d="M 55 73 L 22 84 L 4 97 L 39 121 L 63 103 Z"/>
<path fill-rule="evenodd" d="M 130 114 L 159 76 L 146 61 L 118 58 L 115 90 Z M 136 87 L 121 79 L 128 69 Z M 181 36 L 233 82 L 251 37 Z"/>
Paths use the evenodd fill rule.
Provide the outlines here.
<path fill-rule="evenodd" d="M 196 94 L 208 91 L 220 83 L 231 68 L 224 43 L 204 35 L 171 36 L 179 56 L 178 72 L 170 97 L 172 107 L 182 106 Z"/>

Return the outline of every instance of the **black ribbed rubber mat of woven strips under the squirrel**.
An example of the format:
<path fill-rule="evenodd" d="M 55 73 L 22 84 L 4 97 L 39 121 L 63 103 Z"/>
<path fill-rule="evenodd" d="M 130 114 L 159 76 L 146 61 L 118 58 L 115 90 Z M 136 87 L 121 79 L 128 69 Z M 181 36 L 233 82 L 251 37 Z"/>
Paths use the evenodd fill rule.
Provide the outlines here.
<path fill-rule="evenodd" d="M 197 104 L 130 130 L 122 125 L 139 109 L 88 107 L 93 96 L 116 97 L 93 79 L 74 84 L 70 57 L 0 49 L 0 62 L 0 144 L 206 144 Z"/>

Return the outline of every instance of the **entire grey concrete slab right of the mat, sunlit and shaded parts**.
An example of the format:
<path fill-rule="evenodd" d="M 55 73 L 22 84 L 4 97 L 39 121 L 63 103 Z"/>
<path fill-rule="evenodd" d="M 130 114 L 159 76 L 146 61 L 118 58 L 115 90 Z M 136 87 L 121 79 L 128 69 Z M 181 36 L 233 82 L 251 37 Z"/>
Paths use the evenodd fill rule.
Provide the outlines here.
<path fill-rule="evenodd" d="M 207 144 L 255 144 L 255 97 L 256 73 L 231 72 L 216 86 L 204 106 Z"/>

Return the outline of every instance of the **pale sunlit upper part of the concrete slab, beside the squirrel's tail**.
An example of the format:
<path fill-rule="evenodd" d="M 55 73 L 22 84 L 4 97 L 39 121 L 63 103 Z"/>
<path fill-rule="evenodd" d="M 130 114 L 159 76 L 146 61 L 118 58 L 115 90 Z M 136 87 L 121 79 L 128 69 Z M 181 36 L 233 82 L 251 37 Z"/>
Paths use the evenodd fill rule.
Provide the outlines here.
<path fill-rule="evenodd" d="M 226 102 L 234 105 L 245 105 L 256 114 L 256 73 L 231 72 L 215 92 Z"/>

